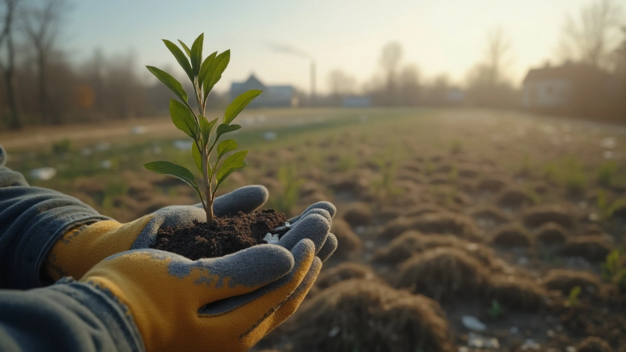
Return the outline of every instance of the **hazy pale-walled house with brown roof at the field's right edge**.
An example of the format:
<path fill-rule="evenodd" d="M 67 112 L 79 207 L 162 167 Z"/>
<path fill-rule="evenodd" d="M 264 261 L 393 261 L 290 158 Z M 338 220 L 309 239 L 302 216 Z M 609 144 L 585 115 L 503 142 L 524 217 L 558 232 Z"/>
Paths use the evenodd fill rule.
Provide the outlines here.
<path fill-rule="evenodd" d="M 610 94 L 609 90 L 610 76 L 595 66 L 570 62 L 554 67 L 546 64 L 528 71 L 522 104 L 528 110 L 579 113 L 597 105 Z"/>

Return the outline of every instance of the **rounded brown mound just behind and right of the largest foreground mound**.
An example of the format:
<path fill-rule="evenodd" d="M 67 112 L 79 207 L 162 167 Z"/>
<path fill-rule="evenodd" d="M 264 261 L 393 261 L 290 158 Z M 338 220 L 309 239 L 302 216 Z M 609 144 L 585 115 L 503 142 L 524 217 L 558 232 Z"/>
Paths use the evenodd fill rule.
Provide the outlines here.
<path fill-rule="evenodd" d="M 456 248 L 434 248 L 399 266 L 395 286 L 437 301 L 476 298 L 485 291 L 490 270 L 475 257 Z"/>

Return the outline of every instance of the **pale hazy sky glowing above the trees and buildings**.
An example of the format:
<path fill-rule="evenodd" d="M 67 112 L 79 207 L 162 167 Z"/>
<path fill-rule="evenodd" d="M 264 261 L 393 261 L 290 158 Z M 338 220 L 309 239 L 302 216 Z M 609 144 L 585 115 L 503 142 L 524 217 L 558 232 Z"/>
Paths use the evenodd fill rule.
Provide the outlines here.
<path fill-rule="evenodd" d="M 67 16 L 64 38 L 78 61 L 96 48 L 108 56 L 132 50 L 139 68 L 175 68 L 160 39 L 191 46 L 203 32 L 205 53 L 232 53 L 216 89 L 254 72 L 265 83 L 308 90 L 309 60 L 270 49 L 272 43 L 287 44 L 315 58 L 318 90 L 326 91 L 334 68 L 355 76 L 359 85 L 368 80 L 389 41 L 402 44 L 403 62 L 418 65 L 423 76 L 448 73 L 463 81 L 481 59 L 486 33 L 502 26 L 511 40 L 511 77 L 519 83 L 529 66 L 554 57 L 565 13 L 577 13 L 588 1 L 80 0 Z M 626 0 L 618 3 L 626 8 Z"/>

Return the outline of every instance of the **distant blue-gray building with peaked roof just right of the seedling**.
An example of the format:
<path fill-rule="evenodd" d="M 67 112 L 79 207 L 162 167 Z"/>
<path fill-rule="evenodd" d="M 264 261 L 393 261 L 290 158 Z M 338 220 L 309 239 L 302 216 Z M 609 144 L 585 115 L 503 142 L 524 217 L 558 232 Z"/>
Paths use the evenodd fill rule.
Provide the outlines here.
<path fill-rule="evenodd" d="M 241 93 L 251 89 L 262 90 L 263 93 L 256 98 L 250 107 L 255 108 L 279 108 L 279 107 L 291 107 L 298 105 L 298 99 L 295 96 L 295 90 L 292 86 L 266 86 L 258 78 L 250 75 L 247 81 L 236 83 L 230 86 L 230 99 L 233 100 Z"/>

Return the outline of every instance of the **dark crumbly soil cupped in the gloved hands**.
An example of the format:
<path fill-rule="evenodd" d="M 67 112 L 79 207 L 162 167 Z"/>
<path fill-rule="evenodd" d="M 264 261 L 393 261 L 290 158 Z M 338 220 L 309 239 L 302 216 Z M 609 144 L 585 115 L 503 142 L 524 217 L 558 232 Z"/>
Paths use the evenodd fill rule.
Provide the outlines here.
<path fill-rule="evenodd" d="M 212 222 L 195 222 L 192 227 L 163 226 L 157 233 L 154 249 L 173 252 L 193 261 L 222 257 L 257 244 L 287 221 L 274 209 L 215 217 Z"/>

